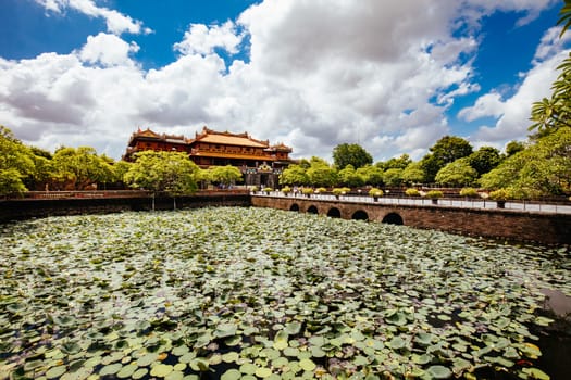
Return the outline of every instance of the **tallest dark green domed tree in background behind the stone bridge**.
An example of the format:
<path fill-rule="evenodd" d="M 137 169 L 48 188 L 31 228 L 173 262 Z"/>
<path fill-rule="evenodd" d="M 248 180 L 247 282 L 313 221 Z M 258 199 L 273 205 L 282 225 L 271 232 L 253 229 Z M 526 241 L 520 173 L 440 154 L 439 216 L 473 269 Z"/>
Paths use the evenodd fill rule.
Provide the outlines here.
<path fill-rule="evenodd" d="M 445 136 L 430 148 L 430 153 L 421 160 L 426 182 L 433 182 L 436 174 L 445 165 L 458 159 L 472 154 L 472 145 L 467 140 L 456 136 Z"/>

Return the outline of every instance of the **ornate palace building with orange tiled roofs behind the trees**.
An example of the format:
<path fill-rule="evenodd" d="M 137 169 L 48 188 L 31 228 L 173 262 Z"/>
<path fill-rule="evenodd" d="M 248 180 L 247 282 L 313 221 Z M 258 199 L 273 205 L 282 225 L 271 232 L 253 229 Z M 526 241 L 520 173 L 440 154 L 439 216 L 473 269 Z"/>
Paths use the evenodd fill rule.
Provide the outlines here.
<path fill-rule="evenodd" d="M 194 139 L 157 134 L 140 128 L 131 136 L 123 159 L 134 161 L 145 150 L 185 152 L 199 167 L 232 165 L 240 169 L 246 185 L 277 187 L 282 170 L 293 163 L 291 148 L 251 138 L 247 132 L 219 132 L 207 127 Z"/>

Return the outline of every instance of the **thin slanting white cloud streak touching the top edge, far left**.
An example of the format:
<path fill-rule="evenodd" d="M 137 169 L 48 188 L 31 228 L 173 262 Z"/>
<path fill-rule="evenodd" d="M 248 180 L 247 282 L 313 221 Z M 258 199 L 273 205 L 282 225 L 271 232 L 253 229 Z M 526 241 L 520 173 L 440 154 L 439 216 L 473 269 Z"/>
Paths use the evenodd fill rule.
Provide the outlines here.
<path fill-rule="evenodd" d="M 66 9 L 72 9 L 90 17 L 101 17 L 105 20 L 107 28 L 115 35 L 123 33 L 149 34 L 150 28 L 142 27 L 140 21 L 121 14 L 117 11 L 97 7 L 94 0 L 35 0 L 42 5 L 46 11 L 63 14 Z"/>

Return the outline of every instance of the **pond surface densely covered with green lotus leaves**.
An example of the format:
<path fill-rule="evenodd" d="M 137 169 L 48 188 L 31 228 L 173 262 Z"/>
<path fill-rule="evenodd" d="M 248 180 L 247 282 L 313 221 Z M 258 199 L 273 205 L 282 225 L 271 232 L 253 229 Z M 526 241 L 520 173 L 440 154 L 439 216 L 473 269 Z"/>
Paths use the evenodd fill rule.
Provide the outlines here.
<path fill-rule="evenodd" d="M 548 379 L 566 249 L 269 208 L 0 227 L 0 378 Z"/>

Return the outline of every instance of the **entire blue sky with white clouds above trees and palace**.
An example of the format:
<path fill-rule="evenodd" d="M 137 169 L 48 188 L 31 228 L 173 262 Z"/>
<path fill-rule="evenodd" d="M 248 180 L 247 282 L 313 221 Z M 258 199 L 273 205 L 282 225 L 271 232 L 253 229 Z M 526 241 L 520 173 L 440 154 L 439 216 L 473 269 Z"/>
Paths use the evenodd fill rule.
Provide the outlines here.
<path fill-rule="evenodd" d="M 208 126 L 331 161 L 529 135 L 571 33 L 561 0 L 0 0 L 0 125 L 124 154 Z"/>

